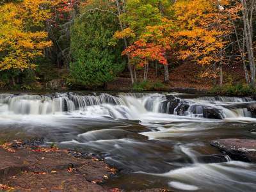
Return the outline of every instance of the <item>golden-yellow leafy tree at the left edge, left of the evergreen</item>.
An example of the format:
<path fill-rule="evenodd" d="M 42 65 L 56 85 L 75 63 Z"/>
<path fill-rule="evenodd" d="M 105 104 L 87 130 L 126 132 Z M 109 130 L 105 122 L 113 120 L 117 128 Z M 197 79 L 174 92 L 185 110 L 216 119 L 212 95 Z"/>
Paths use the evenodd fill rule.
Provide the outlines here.
<path fill-rule="evenodd" d="M 24 0 L 0 6 L 0 70 L 35 69 L 35 59 L 51 46 L 42 31 L 51 17 L 46 0 Z"/>

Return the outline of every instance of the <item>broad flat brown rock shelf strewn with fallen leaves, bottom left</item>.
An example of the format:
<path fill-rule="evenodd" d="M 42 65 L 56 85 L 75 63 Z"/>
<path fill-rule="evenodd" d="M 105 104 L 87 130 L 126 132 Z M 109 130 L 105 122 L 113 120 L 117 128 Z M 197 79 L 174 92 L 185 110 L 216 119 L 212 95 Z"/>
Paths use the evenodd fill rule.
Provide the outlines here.
<path fill-rule="evenodd" d="M 100 186 L 117 172 L 104 161 L 34 141 L 0 145 L 0 162 L 0 191 L 122 191 Z"/>

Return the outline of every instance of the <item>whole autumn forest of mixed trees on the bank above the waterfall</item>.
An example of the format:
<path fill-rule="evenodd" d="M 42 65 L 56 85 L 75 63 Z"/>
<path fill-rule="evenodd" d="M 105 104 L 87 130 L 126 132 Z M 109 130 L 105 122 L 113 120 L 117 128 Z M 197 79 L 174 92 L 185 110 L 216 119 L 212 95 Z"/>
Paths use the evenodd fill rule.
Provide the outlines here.
<path fill-rule="evenodd" d="M 255 0 L 1 0 L 0 88 L 255 90 Z M 116 88 L 118 89 L 118 87 Z"/>

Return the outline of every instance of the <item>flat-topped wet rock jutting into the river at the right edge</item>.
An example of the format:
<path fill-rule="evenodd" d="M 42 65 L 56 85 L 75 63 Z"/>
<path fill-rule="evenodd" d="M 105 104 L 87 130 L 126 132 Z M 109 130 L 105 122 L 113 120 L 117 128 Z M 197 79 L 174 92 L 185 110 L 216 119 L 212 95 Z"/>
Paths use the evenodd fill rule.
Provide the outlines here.
<path fill-rule="evenodd" d="M 222 139 L 211 142 L 236 161 L 256 162 L 256 140 Z"/>

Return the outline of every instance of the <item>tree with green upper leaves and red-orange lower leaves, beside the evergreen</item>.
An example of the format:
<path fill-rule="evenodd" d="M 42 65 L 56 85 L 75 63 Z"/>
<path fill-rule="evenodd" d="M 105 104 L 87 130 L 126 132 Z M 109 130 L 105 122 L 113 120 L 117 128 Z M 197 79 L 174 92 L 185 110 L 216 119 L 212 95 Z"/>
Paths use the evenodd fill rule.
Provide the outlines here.
<path fill-rule="evenodd" d="M 129 42 L 129 46 L 126 47 L 123 55 L 126 54 L 129 57 L 129 64 L 134 66 L 134 77 L 136 79 L 136 68 L 144 68 L 144 80 L 147 79 L 147 71 L 148 71 L 148 61 L 158 61 L 154 60 L 156 56 L 150 57 L 150 55 L 155 54 L 155 50 L 161 49 L 161 54 L 164 56 L 164 68 L 168 69 L 168 61 L 166 59 L 166 49 L 159 42 L 154 41 L 153 39 L 149 40 L 147 33 L 149 36 L 154 36 L 156 34 L 148 31 L 150 27 L 156 26 L 159 28 L 161 24 L 163 24 L 163 4 L 168 4 L 167 1 L 127 1 L 125 6 L 125 13 L 122 13 L 119 16 L 119 19 L 122 23 L 125 24 L 125 29 L 121 31 L 116 31 L 114 38 L 115 39 L 126 39 Z M 160 10 L 162 8 L 162 10 Z M 159 35 L 159 34 L 158 34 Z M 152 41 L 153 40 L 153 41 Z M 142 46 L 140 46 L 142 45 Z M 152 47 L 154 47 L 152 49 Z M 136 50 L 138 48 L 138 50 Z M 145 51 L 145 55 L 138 54 L 138 52 Z M 151 52 L 149 52 L 151 51 Z M 137 52 L 137 54 L 136 54 Z M 146 53 L 147 52 L 147 53 Z M 159 52 L 156 51 L 156 54 Z M 145 65 L 142 65 L 144 63 Z M 162 64 L 163 64 L 162 63 Z M 169 75 L 165 76 L 164 80 L 168 81 Z"/>

